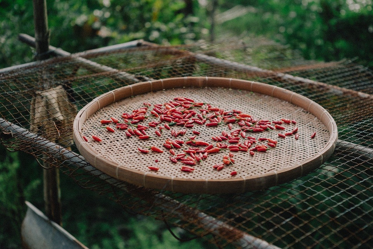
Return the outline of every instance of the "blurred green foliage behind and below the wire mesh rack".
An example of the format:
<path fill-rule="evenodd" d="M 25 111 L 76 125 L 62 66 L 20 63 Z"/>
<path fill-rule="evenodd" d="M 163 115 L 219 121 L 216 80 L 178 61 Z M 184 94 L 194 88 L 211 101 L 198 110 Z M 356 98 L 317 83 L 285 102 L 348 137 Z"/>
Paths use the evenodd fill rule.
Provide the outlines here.
<path fill-rule="evenodd" d="M 221 0 L 217 11 L 236 5 L 252 11 L 217 25 L 217 39 L 253 33 L 307 59 L 357 58 L 373 67 L 372 0 Z M 47 0 L 47 6 L 50 43 L 69 52 L 134 39 L 185 44 L 210 34 L 211 1 Z M 0 68 L 32 61 L 33 50 L 17 35 L 33 30 L 32 1 L 0 0 Z M 43 210 L 42 170 L 28 154 L 3 147 L 0 154 L 0 248 L 18 248 L 24 201 Z M 202 240 L 181 244 L 162 222 L 129 214 L 65 175 L 61 186 L 63 226 L 91 248 L 209 247 Z"/>

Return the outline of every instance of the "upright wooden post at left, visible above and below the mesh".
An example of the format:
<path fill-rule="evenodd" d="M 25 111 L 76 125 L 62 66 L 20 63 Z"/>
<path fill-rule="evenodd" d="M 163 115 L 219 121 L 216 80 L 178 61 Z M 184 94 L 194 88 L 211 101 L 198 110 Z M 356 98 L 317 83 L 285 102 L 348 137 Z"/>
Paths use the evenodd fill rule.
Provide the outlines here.
<path fill-rule="evenodd" d="M 34 7 L 34 25 L 36 41 L 36 59 L 43 60 L 48 58 L 49 50 L 49 30 L 47 19 L 46 0 L 32 0 Z M 51 167 L 49 163 L 44 163 L 43 185 L 44 185 L 44 203 L 46 215 L 49 219 L 61 225 L 61 194 L 60 177 L 56 167 Z"/>

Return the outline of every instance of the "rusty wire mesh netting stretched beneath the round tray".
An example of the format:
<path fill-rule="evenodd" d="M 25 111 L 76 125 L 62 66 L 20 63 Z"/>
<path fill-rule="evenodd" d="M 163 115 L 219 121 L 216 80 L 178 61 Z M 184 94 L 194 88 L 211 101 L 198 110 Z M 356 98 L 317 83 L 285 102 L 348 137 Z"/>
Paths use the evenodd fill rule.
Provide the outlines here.
<path fill-rule="evenodd" d="M 373 74 L 369 69 L 347 60 L 305 61 L 287 47 L 264 39 L 185 47 L 145 43 L 82 57 L 120 72 L 103 72 L 70 56 L 0 76 L 2 144 L 60 167 L 82 187 L 106 195 L 126 210 L 165 220 L 221 247 L 243 246 L 250 240 L 247 234 L 282 248 L 373 245 L 373 96 L 369 95 Z M 233 195 L 136 187 L 99 172 L 78 155 L 71 140 L 76 110 L 121 86 L 181 76 L 253 80 L 306 96 L 335 119 L 340 139 L 335 152 L 306 176 Z M 36 101 L 38 97 L 43 101 Z M 62 105 L 63 98 L 69 104 Z"/>

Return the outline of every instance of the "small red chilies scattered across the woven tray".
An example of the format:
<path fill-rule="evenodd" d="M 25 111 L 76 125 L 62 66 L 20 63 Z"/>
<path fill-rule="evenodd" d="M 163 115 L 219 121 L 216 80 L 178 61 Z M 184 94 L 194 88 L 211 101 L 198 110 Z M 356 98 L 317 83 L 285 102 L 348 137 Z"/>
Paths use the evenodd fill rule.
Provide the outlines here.
<path fill-rule="evenodd" d="M 169 157 L 172 163 L 183 163 L 180 168 L 181 171 L 191 173 L 195 170 L 194 165 L 196 163 L 203 164 L 203 160 L 206 160 L 209 154 L 229 151 L 228 155 L 223 155 L 222 163 L 213 166 L 216 170 L 222 170 L 225 166 L 233 165 L 235 160 L 233 159 L 234 154 L 232 152 L 249 152 L 251 156 L 254 156 L 255 152 L 266 152 L 273 149 L 277 145 L 277 141 L 270 138 L 254 138 L 253 136 L 247 136 L 247 132 L 261 133 L 264 131 L 285 130 L 286 127 L 283 124 L 294 124 L 294 128 L 290 132 L 278 133 L 280 138 L 286 138 L 286 136 L 294 135 L 295 139 L 299 138 L 298 127 L 295 126 L 297 123 L 295 120 L 281 119 L 278 121 L 270 120 L 256 120 L 251 117 L 250 114 L 242 113 L 239 110 L 225 111 L 218 107 L 213 107 L 211 104 L 203 102 L 195 102 L 193 99 L 186 97 L 176 97 L 173 101 L 166 102 L 164 104 L 152 105 L 150 103 L 143 103 L 144 107 L 133 110 L 132 114 L 123 113 L 122 122 L 118 119 L 110 117 L 110 119 L 101 120 L 101 124 L 114 123 L 115 128 L 118 130 L 124 130 L 127 137 L 137 136 L 138 139 L 161 139 L 163 133 L 169 130 L 170 135 L 175 139 L 166 138 L 163 147 L 166 148 L 172 155 Z M 150 114 L 148 115 L 148 111 Z M 155 116 L 159 118 L 159 121 L 151 121 L 147 126 L 139 124 L 144 122 L 148 117 Z M 239 128 L 233 129 L 233 124 L 237 124 Z M 227 126 L 229 132 L 223 130 L 221 135 L 213 136 L 211 139 L 214 142 L 198 141 L 197 136 L 200 135 L 198 130 L 191 130 L 193 135 L 186 135 L 188 129 L 175 130 L 171 127 L 185 127 L 192 129 L 196 125 L 207 126 L 207 127 L 218 127 Z M 149 127 L 158 129 L 155 130 L 156 137 L 148 135 L 146 132 Z M 109 132 L 115 132 L 110 126 L 105 127 Z M 232 130 L 232 131 L 231 131 Z M 316 132 L 311 135 L 311 138 L 316 136 Z M 178 138 L 180 137 L 180 138 Z M 186 141 L 182 138 L 186 137 Z M 92 138 L 101 142 L 101 138 L 93 135 Z M 83 136 L 83 139 L 88 142 L 87 137 Z M 267 142 L 267 144 L 255 145 L 258 141 Z M 141 153 L 149 153 L 151 151 L 157 153 L 163 153 L 161 148 L 156 146 L 138 148 Z M 178 153 L 177 151 L 182 151 Z M 150 170 L 157 171 L 159 167 L 149 166 Z M 234 170 L 230 172 L 232 176 L 237 174 Z"/>

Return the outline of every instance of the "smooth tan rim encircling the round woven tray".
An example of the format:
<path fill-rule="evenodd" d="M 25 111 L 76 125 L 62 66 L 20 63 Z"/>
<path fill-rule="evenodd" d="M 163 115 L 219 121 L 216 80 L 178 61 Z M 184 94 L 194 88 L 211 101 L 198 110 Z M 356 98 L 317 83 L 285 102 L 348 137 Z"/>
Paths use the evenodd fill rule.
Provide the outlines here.
<path fill-rule="evenodd" d="M 112 162 L 110 159 L 96 154 L 88 145 L 88 142 L 84 141 L 80 133 L 83 123 L 93 113 L 124 98 L 164 89 L 167 90 L 181 87 L 206 86 L 225 87 L 261 93 L 274 98 L 282 99 L 295 106 L 301 107 L 313 114 L 326 126 L 330 133 L 329 141 L 322 148 L 322 150 L 316 153 L 316 155 L 309 157 L 301 163 L 295 163 L 293 166 L 275 170 L 273 172 L 250 177 L 238 176 L 233 179 L 187 179 L 181 177 L 171 178 L 168 176 L 159 176 L 151 172 L 142 172 L 140 170 L 131 169 L 125 165 L 119 165 L 118 163 Z M 306 175 L 322 165 L 332 155 L 338 139 L 338 129 L 333 117 L 327 110 L 325 110 L 325 108 L 311 99 L 290 90 L 266 83 L 241 79 L 185 76 L 135 83 L 97 96 L 90 103 L 85 105 L 76 115 L 73 123 L 73 139 L 79 153 L 81 153 L 88 162 L 107 175 L 121 181 L 126 181 L 131 184 L 140 185 L 147 188 L 170 190 L 182 193 L 215 194 L 261 190 Z M 97 167 L 97 165 L 99 166 Z"/>

